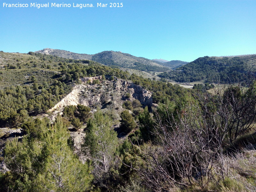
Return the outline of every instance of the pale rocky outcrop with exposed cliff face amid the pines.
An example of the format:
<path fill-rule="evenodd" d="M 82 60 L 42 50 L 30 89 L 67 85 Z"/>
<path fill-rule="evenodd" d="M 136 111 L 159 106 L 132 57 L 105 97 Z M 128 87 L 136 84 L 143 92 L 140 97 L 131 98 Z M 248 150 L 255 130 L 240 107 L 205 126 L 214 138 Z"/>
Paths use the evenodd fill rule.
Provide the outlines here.
<path fill-rule="evenodd" d="M 72 92 L 49 111 L 58 114 L 65 106 L 77 104 L 91 108 L 104 108 L 104 105 L 111 103 L 116 105 L 116 108 L 118 106 L 121 107 L 124 100 L 132 101 L 134 99 L 139 100 L 143 107 L 152 106 L 152 93 L 140 85 L 117 78 L 112 81 L 100 81 L 100 84 L 86 83 L 87 81 L 92 82 L 93 79 L 101 80 L 101 76 L 82 78 L 82 84 L 77 84 Z M 130 93 L 131 98 L 125 97 L 126 93 Z"/>

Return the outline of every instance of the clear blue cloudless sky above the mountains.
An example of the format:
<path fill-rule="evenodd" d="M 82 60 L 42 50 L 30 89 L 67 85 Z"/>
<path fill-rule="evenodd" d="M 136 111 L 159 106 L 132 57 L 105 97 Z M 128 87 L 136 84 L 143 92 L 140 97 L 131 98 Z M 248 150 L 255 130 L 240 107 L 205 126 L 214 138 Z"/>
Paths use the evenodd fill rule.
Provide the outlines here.
<path fill-rule="evenodd" d="M 3 3 L 92 3 L 93 8 L 3 8 Z M 100 8 L 97 3 L 123 3 Z M 0 50 L 43 48 L 193 61 L 256 53 L 256 0 L 0 0 Z"/>

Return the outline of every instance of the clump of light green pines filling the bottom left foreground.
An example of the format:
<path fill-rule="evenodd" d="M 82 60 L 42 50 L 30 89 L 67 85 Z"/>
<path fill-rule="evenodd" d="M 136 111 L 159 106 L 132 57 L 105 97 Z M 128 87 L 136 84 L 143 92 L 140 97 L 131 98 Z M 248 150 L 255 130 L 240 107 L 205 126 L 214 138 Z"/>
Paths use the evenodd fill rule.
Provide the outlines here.
<path fill-rule="evenodd" d="M 82 164 L 68 145 L 67 126 L 60 116 L 52 127 L 38 126 L 36 138 L 8 141 L 5 163 L 10 169 L 10 191 L 86 191 L 90 166 Z"/>

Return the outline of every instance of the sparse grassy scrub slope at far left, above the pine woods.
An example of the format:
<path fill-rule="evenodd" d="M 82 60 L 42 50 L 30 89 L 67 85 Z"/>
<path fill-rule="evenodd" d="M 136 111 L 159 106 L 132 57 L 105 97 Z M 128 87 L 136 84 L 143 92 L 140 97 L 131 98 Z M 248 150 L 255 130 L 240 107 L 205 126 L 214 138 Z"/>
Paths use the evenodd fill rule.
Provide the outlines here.
<path fill-rule="evenodd" d="M 52 84 L 60 75 L 59 63 L 65 59 L 46 55 L 0 52 L 0 89 L 15 85 Z"/>

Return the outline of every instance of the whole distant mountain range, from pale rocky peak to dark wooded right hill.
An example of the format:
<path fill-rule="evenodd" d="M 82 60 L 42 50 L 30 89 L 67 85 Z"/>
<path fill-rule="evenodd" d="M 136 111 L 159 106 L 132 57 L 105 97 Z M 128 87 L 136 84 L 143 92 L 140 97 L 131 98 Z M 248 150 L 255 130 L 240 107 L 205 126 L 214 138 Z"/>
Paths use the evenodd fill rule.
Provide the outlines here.
<path fill-rule="evenodd" d="M 256 71 L 256 54 L 200 57 L 192 62 L 180 60 L 154 59 L 136 57 L 128 53 L 103 51 L 96 54 L 79 54 L 59 49 L 45 48 L 35 53 L 54 55 L 67 59 L 92 60 L 101 64 L 120 67 L 123 69 L 136 69 L 146 72 L 164 72 L 158 76 L 176 82 L 241 82 L 248 71 Z"/>

